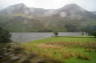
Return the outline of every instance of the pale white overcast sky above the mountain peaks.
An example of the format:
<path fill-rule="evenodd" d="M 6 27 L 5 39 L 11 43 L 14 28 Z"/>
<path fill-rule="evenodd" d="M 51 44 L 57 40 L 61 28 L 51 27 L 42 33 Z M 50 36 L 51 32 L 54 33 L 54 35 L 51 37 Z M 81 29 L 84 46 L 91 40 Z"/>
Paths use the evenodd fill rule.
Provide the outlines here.
<path fill-rule="evenodd" d="M 45 9 L 57 9 L 66 4 L 76 3 L 88 11 L 96 11 L 96 0 L 0 0 L 0 9 L 17 3 Z"/>

